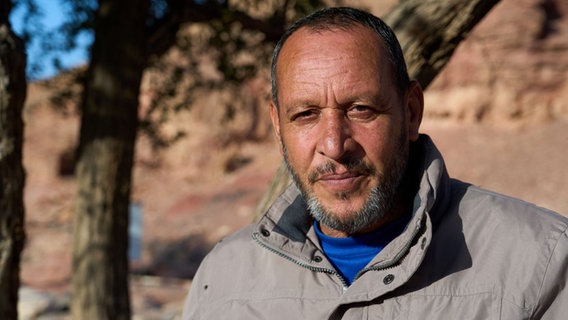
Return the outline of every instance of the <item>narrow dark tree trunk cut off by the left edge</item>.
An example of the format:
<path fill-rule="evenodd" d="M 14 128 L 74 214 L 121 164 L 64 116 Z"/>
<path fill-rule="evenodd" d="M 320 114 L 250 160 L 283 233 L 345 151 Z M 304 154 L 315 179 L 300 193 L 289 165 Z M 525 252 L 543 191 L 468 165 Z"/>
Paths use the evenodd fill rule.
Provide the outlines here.
<path fill-rule="evenodd" d="M 26 55 L 8 23 L 11 1 L 0 3 L 0 318 L 18 319 L 20 256 L 24 246 L 22 165 Z"/>

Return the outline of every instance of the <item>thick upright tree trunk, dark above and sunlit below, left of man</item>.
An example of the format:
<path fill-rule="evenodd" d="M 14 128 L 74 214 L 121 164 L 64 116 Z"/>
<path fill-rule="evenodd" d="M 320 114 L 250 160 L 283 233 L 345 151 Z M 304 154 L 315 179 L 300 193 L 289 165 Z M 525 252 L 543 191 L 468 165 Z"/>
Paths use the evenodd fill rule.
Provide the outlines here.
<path fill-rule="evenodd" d="M 129 319 L 128 208 L 149 0 L 100 0 L 84 85 L 73 319 Z"/>

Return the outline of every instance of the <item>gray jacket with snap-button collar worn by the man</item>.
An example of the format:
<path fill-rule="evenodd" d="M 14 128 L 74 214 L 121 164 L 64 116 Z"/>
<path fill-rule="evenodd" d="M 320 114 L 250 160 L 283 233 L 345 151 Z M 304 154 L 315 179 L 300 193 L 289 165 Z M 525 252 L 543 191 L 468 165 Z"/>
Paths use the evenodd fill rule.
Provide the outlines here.
<path fill-rule="evenodd" d="M 568 220 L 450 179 L 420 141 L 413 218 L 351 286 L 290 186 L 205 258 L 183 319 L 568 319 Z"/>

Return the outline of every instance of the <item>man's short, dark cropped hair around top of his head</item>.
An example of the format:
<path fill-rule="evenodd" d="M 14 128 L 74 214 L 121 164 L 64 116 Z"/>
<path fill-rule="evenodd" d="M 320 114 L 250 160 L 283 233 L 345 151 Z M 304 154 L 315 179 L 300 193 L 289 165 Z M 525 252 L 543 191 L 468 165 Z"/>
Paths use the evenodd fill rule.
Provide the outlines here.
<path fill-rule="evenodd" d="M 278 107 L 278 86 L 276 82 L 276 65 L 280 51 L 286 40 L 302 27 L 307 27 L 312 31 L 329 31 L 334 29 L 350 30 L 355 26 L 362 26 L 374 31 L 387 51 L 387 59 L 391 64 L 392 77 L 399 94 L 403 94 L 410 84 L 410 77 L 406 69 L 406 62 L 392 29 L 376 16 L 355 8 L 335 7 L 325 8 L 296 21 L 280 38 L 272 54 L 271 78 L 272 78 L 272 100 Z"/>

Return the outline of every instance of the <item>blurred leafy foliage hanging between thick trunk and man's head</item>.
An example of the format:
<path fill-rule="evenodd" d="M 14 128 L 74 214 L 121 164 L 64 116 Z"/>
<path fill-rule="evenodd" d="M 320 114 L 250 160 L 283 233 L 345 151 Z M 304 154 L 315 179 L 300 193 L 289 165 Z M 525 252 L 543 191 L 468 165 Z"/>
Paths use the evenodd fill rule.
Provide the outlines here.
<path fill-rule="evenodd" d="M 167 1 L 166 1 L 167 2 Z M 215 5 L 205 2 L 209 8 Z M 160 4 L 161 3 L 161 4 Z M 166 147 L 183 137 L 160 134 L 160 126 L 179 110 L 188 109 L 197 92 L 225 91 L 239 97 L 239 90 L 247 80 L 266 70 L 275 41 L 287 27 L 288 21 L 323 5 L 319 0 L 258 1 L 243 0 L 229 6 L 223 2 L 217 14 L 207 18 L 193 16 L 180 27 L 174 45 L 174 59 L 154 56 L 148 68 L 154 81 L 155 98 L 143 113 L 141 129 L 150 137 L 155 149 Z M 154 8 L 164 19 L 168 10 L 183 10 L 179 3 L 164 5 L 154 1 Z M 203 14 L 206 16 L 206 14 Z M 184 20 L 184 19 L 181 19 Z M 156 25 L 159 22 L 156 21 Z M 203 65 L 214 65 L 215 72 L 204 70 Z M 226 101 L 224 121 L 231 121 L 236 112 L 235 101 Z"/>

